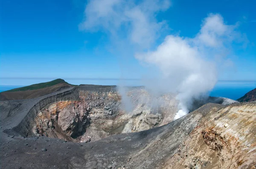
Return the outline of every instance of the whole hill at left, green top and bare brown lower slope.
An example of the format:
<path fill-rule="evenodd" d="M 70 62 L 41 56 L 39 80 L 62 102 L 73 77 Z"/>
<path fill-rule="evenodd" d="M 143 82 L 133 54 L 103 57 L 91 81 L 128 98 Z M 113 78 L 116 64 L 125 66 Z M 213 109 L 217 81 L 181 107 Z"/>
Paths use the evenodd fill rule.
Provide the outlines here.
<path fill-rule="evenodd" d="M 63 79 L 55 79 L 50 82 L 38 83 L 1 92 L 0 100 L 33 99 L 74 86 L 75 85 L 65 82 Z"/>

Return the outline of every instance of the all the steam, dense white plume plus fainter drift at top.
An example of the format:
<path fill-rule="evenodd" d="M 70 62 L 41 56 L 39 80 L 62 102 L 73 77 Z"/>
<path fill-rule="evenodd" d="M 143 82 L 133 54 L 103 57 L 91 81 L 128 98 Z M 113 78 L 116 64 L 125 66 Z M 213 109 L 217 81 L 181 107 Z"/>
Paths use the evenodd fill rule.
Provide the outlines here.
<path fill-rule="evenodd" d="M 169 0 L 90 0 L 79 27 L 105 31 L 115 41 L 125 42 L 129 48 L 125 51 L 133 51 L 144 65 L 159 70 L 158 79 L 145 86 L 154 93 L 178 93 L 177 119 L 189 113 L 194 99 L 208 96 L 218 80 L 219 65 L 241 36 L 235 31 L 238 24 L 227 25 L 220 14 L 209 14 L 193 38 L 167 35 L 154 48 L 166 28 L 166 22 L 158 22 L 156 16 L 170 6 Z M 116 44 L 113 43 L 116 49 L 121 48 Z"/>

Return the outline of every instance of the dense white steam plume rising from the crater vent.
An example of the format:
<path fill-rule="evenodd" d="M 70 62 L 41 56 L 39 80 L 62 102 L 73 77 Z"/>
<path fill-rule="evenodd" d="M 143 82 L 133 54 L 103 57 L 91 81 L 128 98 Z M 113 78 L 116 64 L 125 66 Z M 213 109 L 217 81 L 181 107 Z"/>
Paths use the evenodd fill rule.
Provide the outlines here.
<path fill-rule="evenodd" d="M 189 113 L 194 99 L 207 96 L 215 86 L 215 57 L 225 56 L 224 51 L 239 37 L 234 28 L 225 25 L 221 15 L 209 14 L 194 38 L 169 35 L 155 51 L 136 55 L 159 68 L 169 91 L 178 93 L 180 110 L 175 119 Z"/>

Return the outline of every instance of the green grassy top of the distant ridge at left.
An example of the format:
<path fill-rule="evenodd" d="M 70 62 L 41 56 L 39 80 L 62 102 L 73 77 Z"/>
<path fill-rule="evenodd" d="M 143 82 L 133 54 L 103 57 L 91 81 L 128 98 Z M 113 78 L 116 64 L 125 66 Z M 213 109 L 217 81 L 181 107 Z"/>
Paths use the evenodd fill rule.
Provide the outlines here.
<path fill-rule="evenodd" d="M 50 86 L 53 86 L 53 85 L 57 85 L 59 83 L 66 83 L 66 84 L 70 85 L 69 83 L 65 82 L 63 79 L 55 79 L 55 80 L 50 81 L 50 82 L 38 83 L 38 84 L 30 85 L 30 86 L 19 87 L 19 88 L 16 88 L 16 89 L 7 90 L 6 92 L 17 92 L 17 91 L 42 89 L 42 88 L 45 88 L 45 87 L 50 87 Z"/>

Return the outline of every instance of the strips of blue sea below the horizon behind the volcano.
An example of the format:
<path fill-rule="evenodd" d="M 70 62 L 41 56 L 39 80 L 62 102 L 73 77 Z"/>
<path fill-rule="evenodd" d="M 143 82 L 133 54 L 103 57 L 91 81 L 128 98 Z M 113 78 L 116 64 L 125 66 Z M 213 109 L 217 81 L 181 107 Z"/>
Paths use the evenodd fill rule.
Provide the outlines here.
<path fill-rule="evenodd" d="M 46 80 L 41 80 L 41 82 L 47 82 Z M 77 85 L 75 81 L 72 82 L 72 80 L 66 80 L 66 82 L 69 82 L 71 84 Z M 32 84 L 32 83 L 30 83 Z M 95 85 L 115 85 L 119 84 L 117 80 L 115 79 L 88 79 L 83 80 L 83 82 L 80 82 L 79 84 L 95 84 Z M 135 81 L 129 84 L 129 86 L 133 86 L 132 84 L 135 84 Z M 23 87 L 26 85 L 0 85 L 0 92 L 11 90 L 17 87 Z M 220 81 L 218 82 L 213 90 L 209 93 L 209 96 L 214 97 L 227 97 L 230 99 L 239 99 L 240 97 L 244 96 L 245 93 L 249 92 L 250 90 L 253 90 L 256 88 L 256 81 Z"/>

